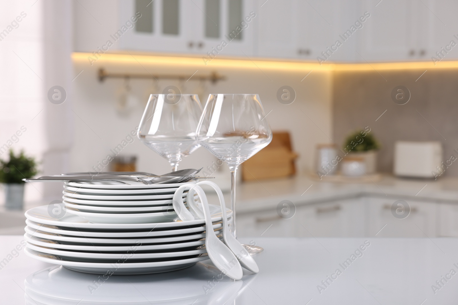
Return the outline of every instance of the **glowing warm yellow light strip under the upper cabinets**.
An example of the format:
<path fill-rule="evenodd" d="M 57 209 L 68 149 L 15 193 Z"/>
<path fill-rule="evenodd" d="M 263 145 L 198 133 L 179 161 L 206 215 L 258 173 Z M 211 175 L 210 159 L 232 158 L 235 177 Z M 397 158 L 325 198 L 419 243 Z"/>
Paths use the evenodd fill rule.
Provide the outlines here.
<path fill-rule="evenodd" d="M 88 57 L 95 59 L 91 53 L 75 52 L 72 54 L 74 61 L 87 61 Z M 215 58 L 204 63 L 201 57 L 170 56 L 170 55 L 144 55 L 144 54 L 102 54 L 98 63 L 132 63 L 132 64 L 169 64 L 179 66 L 196 66 L 208 68 L 243 68 L 266 70 L 290 71 L 368 71 L 368 70 L 406 70 L 406 69 L 444 69 L 458 68 L 458 61 L 441 61 L 436 65 L 432 61 L 420 62 L 394 62 L 394 63 L 323 63 L 289 61 L 279 59 L 229 59 Z"/>

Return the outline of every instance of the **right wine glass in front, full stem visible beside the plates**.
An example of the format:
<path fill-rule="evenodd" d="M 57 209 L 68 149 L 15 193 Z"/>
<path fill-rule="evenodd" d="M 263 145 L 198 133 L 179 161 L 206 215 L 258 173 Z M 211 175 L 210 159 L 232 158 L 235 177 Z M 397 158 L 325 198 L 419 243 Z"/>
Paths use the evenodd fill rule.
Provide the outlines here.
<path fill-rule="evenodd" d="M 199 144 L 229 165 L 231 174 L 231 232 L 235 230 L 235 178 L 239 165 L 272 140 L 257 94 L 210 94 L 196 130 Z M 263 249 L 244 245 L 250 253 Z"/>

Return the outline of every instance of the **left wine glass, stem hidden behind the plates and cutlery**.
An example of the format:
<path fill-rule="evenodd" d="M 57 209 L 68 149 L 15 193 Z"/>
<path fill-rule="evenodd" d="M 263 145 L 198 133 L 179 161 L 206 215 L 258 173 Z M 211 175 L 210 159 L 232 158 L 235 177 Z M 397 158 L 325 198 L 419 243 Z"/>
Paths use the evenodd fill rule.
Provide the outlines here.
<path fill-rule="evenodd" d="M 169 160 L 172 171 L 200 147 L 196 127 L 202 114 L 196 94 L 152 94 L 140 120 L 137 137 Z"/>

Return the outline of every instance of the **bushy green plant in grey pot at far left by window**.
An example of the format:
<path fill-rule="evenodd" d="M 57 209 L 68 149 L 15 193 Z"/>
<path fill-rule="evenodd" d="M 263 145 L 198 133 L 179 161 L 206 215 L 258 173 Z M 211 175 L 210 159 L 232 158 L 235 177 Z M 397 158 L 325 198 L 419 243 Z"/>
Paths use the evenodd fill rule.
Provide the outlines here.
<path fill-rule="evenodd" d="M 10 150 L 10 160 L 0 160 L 0 183 L 6 187 L 6 208 L 22 209 L 24 205 L 24 178 L 32 178 L 37 174 L 37 164 L 32 157 L 26 157 L 21 151 L 14 155 Z"/>

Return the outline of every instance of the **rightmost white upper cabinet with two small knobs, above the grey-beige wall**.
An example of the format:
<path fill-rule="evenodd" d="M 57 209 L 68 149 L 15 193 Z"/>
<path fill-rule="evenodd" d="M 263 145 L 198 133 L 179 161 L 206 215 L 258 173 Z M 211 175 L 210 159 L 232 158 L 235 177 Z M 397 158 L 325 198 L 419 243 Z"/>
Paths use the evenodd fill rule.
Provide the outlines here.
<path fill-rule="evenodd" d="M 458 43 L 456 18 L 449 13 L 458 9 L 456 1 L 384 0 L 374 6 L 362 0 L 361 6 L 371 18 L 357 47 L 359 61 L 431 60 L 452 39 Z M 457 57 L 456 50 L 449 52 L 443 53 L 446 59 Z"/>

